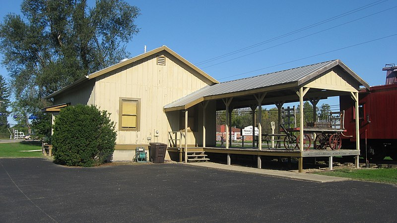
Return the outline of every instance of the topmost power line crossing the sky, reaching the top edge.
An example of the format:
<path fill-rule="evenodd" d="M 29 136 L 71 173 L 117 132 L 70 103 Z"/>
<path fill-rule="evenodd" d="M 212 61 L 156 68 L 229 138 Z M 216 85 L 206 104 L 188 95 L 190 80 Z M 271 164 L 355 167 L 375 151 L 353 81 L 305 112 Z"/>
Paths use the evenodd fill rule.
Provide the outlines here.
<path fill-rule="evenodd" d="M 242 48 L 242 49 L 239 49 L 239 50 L 236 50 L 236 51 L 233 51 L 233 52 L 230 52 L 230 53 L 221 55 L 221 56 L 215 56 L 215 57 L 213 57 L 213 58 L 200 61 L 200 62 L 196 63 L 195 65 L 202 65 L 202 64 L 204 64 L 204 63 L 208 63 L 208 62 L 211 62 L 211 61 L 214 61 L 214 60 L 217 60 L 217 59 L 226 57 L 226 56 L 230 56 L 230 55 L 234 55 L 234 54 L 237 54 L 237 53 L 240 53 L 240 52 L 243 52 L 243 51 L 247 51 L 247 50 L 252 49 L 252 48 L 254 48 L 254 47 L 258 47 L 258 46 L 261 46 L 261 45 L 263 45 L 263 44 L 266 44 L 266 43 L 269 43 L 269 42 L 272 42 L 272 41 L 275 41 L 275 40 L 278 40 L 278 39 L 281 39 L 281 38 L 284 38 L 284 37 L 293 35 L 293 34 L 295 34 L 295 33 L 302 32 L 302 31 L 304 31 L 304 30 L 307 30 L 307 29 L 310 29 L 310 28 L 313 28 L 313 27 L 322 25 L 322 24 L 324 24 L 324 23 L 327 23 L 327 22 L 330 22 L 330 21 L 332 21 L 332 20 L 335 20 L 335 19 L 344 17 L 344 16 L 346 16 L 346 15 L 349 15 L 349 14 L 352 14 L 352 13 L 355 13 L 355 12 L 358 12 L 358 11 L 361 11 L 361 10 L 364 10 L 364 9 L 366 9 L 366 8 L 369 8 L 369 7 L 375 6 L 375 5 L 377 5 L 377 4 L 383 3 L 383 2 L 385 2 L 385 1 L 387 1 L 387 0 L 378 0 L 378 1 L 375 1 L 375 2 L 373 2 L 373 3 L 370 3 L 370 4 L 367 4 L 367 5 L 364 5 L 364 6 L 355 8 L 355 9 L 353 9 L 353 10 L 344 12 L 344 13 L 342 13 L 342 14 L 339 14 L 339 15 L 336 15 L 336 16 L 334 16 L 334 17 L 325 19 L 325 20 L 323 20 L 323 21 L 320 21 L 320 22 L 311 24 L 311 25 L 309 25 L 309 26 L 306 26 L 306 27 L 303 27 L 303 28 L 300 28 L 300 29 L 291 31 L 291 32 L 289 32 L 289 33 L 285 33 L 285 34 L 283 34 L 283 35 L 280 35 L 280 36 L 277 36 L 277 37 L 274 37 L 274 38 L 265 40 L 265 41 L 263 41 L 263 42 L 260 42 L 260 43 L 257 43 L 257 44 L 254 44 L 254 45 L 251 45 L 251 46 L 248 46 L 248 47 L 245 47 L 245 48 Z"/>

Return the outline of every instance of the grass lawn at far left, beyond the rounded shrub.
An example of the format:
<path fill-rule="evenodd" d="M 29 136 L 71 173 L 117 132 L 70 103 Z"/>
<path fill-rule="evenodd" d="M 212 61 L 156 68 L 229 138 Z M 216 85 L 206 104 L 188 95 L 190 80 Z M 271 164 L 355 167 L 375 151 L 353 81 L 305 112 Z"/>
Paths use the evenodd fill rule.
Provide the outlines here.
<path fill-rule="evenodd" d="M 22 150 L 40 150 L 37 152 L 20 152 Z M 43 157 L 40 141 L 17 143 L 0 143 L 0 158 Z"/>

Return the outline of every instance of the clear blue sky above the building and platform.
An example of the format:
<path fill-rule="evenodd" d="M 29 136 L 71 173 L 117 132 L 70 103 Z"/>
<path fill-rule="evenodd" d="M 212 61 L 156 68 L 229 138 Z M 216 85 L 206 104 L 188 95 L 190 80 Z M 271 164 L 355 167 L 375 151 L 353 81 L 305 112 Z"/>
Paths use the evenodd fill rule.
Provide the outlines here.
<path fill-rule="evenodd" d="M 385 84 L 386 73 L 382 67 L 386 63 L 397 63 L 397 0 L 128 2 L 141 10 L 136 19 L 140 32 L 127 45 L 131 56 L 142 54 L 144 45 L 148 51 L 166 45 L 194 64 L 369 6 L 244 52 L 197 65 L 219 81 L 341 59 L 374 86 Z M 20 14 L 20 3 L 21 0 L 3 2 L 0 17 L 8 12 Z M 376 39 L 380 40 L 374 41 Z M 365 42 L 369 43 L 361 44 Z M 360 45 L 350 47 L 357 44 Z M 230 61 L 224 62 L 226 60 Z M 256 71 L 250 72 L 253 70 Z M 7 75 L 3 67 L 0 74 Z M 329 104 L 334 103 L 337 101 Z"/>

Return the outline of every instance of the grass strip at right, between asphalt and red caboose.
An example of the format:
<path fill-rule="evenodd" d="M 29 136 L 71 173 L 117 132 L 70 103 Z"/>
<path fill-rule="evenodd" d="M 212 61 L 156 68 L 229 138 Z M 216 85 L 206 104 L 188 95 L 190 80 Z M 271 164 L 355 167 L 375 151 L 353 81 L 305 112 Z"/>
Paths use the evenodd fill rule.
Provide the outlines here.
<path fill-rule="evenodd" d="M 348 177 L 357 180 L 397 184 L 397 169 L 335 169 L 333 171 L 314 172 L 328 176 Z"/>

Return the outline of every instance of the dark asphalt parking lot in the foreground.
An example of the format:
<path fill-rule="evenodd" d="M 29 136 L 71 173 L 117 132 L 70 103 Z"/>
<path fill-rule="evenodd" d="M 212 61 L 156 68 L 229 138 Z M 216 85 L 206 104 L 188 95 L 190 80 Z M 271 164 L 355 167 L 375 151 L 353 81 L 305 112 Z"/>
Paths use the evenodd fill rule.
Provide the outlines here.
<path fill-rule="evenodd" d="M 182 164 L 0 159 L 0 222 L 395 222 L 397 187 Z"/>

